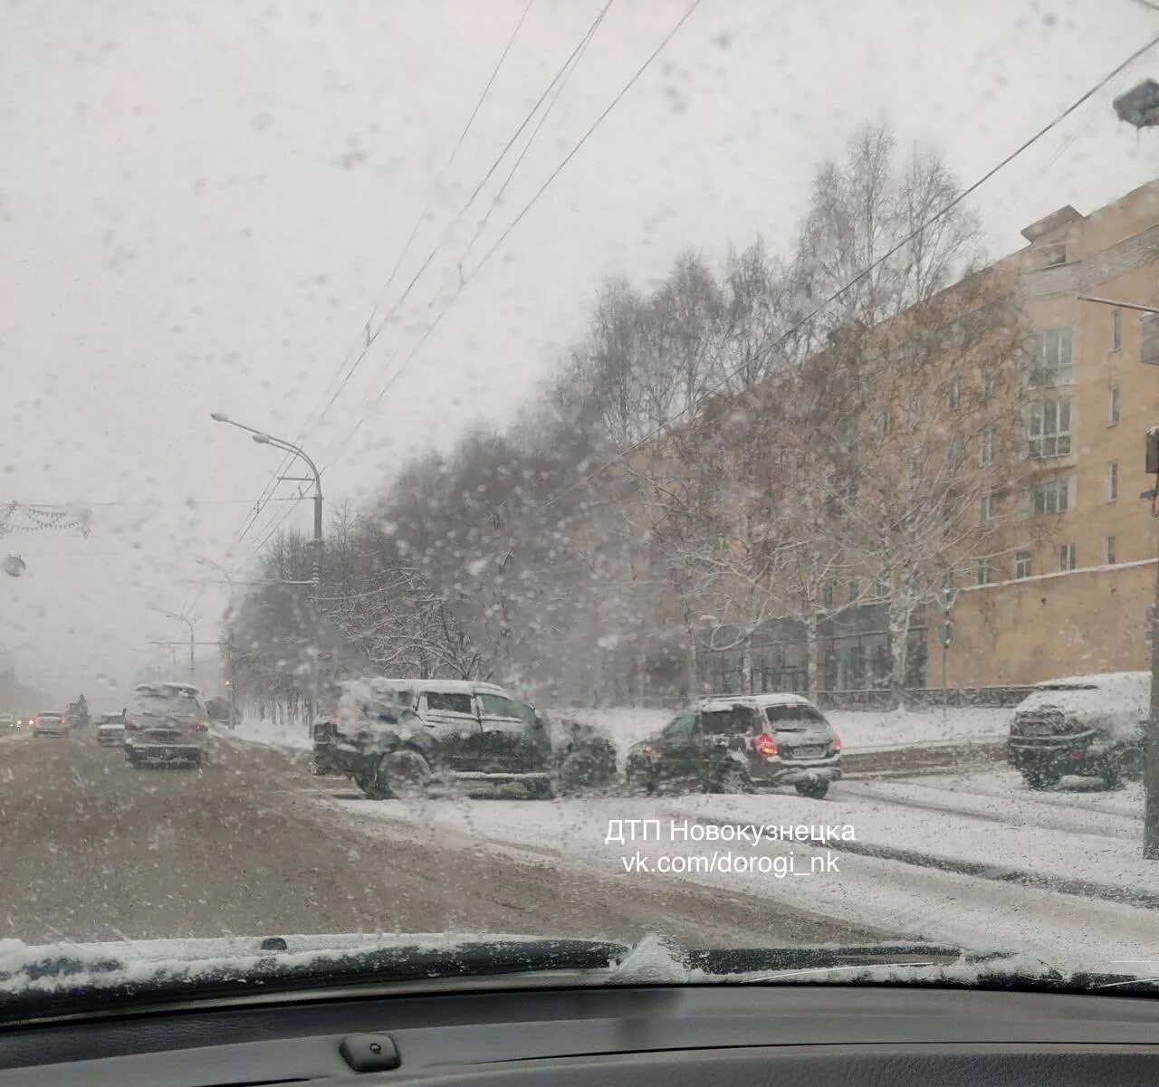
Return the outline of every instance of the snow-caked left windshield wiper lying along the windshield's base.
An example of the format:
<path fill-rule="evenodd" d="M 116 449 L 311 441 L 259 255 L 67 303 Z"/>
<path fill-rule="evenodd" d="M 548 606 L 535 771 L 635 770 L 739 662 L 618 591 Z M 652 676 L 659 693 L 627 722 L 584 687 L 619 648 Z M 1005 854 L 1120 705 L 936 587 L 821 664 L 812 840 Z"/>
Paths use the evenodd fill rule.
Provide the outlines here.
<path fill-rule="evenodd" d="M 407 939 L 414 942 L 402 942 Z M 90 1012 L 94 1005 L 123 1009 L 163 1004 L 174 998 L 217 999 L 289 990 L 326 990 L 414 980 L 544 975 L 552 971 L 607 972 L 630 950 L 600 940 L 545 940 L 475 936 L 432 944 L 421 936 L 363 948 L 311 946 L 299 938 L 289 948 L 282 938 L 253 942 L 248 954 L 205 954 L 199 941 L 173 955 L 133 955 L 133 944 L 28 948 L 0 956 L 0 1021 L 27 1021 Z M 148 951 L 152 941 L 139 941 Z M 169 941 L 159 941 L 168 943 Z M 201 941 L 213 943 L 214 941 Z M 438 943 L 442 942 L 442 946 Z"/>

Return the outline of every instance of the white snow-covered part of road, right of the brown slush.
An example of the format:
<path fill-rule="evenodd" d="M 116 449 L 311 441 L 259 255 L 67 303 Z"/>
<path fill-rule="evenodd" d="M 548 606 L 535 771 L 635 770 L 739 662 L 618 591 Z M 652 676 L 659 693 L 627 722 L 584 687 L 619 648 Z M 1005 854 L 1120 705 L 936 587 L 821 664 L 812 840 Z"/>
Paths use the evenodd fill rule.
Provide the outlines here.
<path fill-rule="evenodd" d="M 930 940 L 1025 950 L 1058 964 L 1159 958 L 1154 910 L 1128 900 L 1142 891 L 1159 896 L 1159 871 L 1140 859 L 1137 787 L 1096 793 L 1080 785 L 1038 794 L 1001 771 L 843 782 L 826 801 L 772 794 L 597 797 L 553 804 L 350 798 L 323 803 L 344 811 L 366 833 L 387 820 L 395 829 L 410 824 L 416 834 L 432 840 L 451 836 L 472 841 L 476 849 L 549 858 L 582 869 L 593 893 L 632 895 L 633 881 L 642 876 L 641 861 L 655 880 L 662 856 L 715 856 L 714 870 L 659 878 L 678 885 L 691 881 L 763 899 L 770 907 L 790 906 Z M 657 820 L 649 831 L 658 825 L 662 837 L 657 840 L 649 833 L 648 839 L 632 840 L 626 832 L 624 842 L 607 840 L 610 820 L 630 819 Z M 673 819 L 678 826 L 685 819 L 705 826 L 850 824 L 857 841 L 752 844 L 680 836 L 672 840 Z M 641 823 L 635 826 L 642 831 Z M 887 855 L 867 855 L 860 852 L 865 848 Z M 766 870 L 721 870 L 726 854 L 734 863 L 744 856 L 750 866 L 761 863 Z M 824 870 L 834 855 L 836 870 Z M 790 856 L 793 871 L 777 867 L 787 866 Z M 626 865 L 636 870 L 626 871 Z M 822 870 L 812 871 L 814 865 Z M 1011 882 L 1011 871 L 1026 873 L 1032 884 Z M 1054 881 L 1072 892 L 1059 892 Z"/>

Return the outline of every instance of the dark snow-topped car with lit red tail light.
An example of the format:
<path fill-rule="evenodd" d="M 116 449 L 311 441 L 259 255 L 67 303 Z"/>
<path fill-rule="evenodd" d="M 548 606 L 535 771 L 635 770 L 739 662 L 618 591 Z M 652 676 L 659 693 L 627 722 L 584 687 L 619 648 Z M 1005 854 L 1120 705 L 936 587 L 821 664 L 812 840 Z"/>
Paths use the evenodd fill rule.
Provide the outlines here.
<path fill-rule="evenodd" d="M 819 800 L 841 776 L 841 741 L 825 715 L 800 695 L 719 695 L 634 744 L 625 772 L 636 794 L 793 786 Z"/>

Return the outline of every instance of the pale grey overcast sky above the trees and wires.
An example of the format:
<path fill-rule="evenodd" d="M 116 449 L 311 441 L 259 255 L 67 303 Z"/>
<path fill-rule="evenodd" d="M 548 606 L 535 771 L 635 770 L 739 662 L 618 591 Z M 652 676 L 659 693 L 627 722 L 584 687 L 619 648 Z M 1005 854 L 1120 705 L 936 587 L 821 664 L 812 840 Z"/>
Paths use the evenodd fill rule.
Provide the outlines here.
<path fill-rule="evenodd" d="M 1137 0 L 702 0 L 472 275 L 687 6 L 614 0 L 464 258 L 509 165 L 455 217 L 603 5 L 532 0 L 450 168 L 526 0 L 2 6 L 0 501 L 88 504 L 94 525 L 0 544 L 28 563 L 0 583 L 0 663 L 119 708 L 105 685 L 184 636 L 151 608 L 192 606 L 218 636 L 226 593 L 198 557 L 246 577 L 286 503 L 236 542 L 278 458 L 210 411 L 302 436 L 327 502 L 357 502 L 415 451 L 502 424 L 604 276 L 787 246 L 860 122 L 933 143 L 969 182 L 1159 32 Z M 978 194 L 992 256 L 1159 174 L 1159 134 L 1110 109 L 1146 75 L 1159 50 Z M 319 420 L 376 307 L 398 308 Z"/>

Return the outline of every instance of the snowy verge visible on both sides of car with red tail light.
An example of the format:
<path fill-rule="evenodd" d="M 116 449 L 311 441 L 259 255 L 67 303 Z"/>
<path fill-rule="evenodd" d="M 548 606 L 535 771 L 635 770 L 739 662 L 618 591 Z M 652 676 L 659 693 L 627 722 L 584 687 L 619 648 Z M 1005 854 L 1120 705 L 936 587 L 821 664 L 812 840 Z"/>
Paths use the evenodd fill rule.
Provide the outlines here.
<path fill-rule="evenodd" d="M 913 746 L 948 746 L 991 743 L 1006 738 L 1013 710 L 949 707 L 945 720 L 941 709 L 898 709 L 891 712 L 833 709 L 825 716 L 841 737 L 843 750 L 895 751 Z M 622 765 L 627 749 L 658 732 L 676 716 L 670 709 L 614 706 L 606 709 L 548 710 L 553 721 L 571 717 L 604 729 L 615 741 Z"/>

